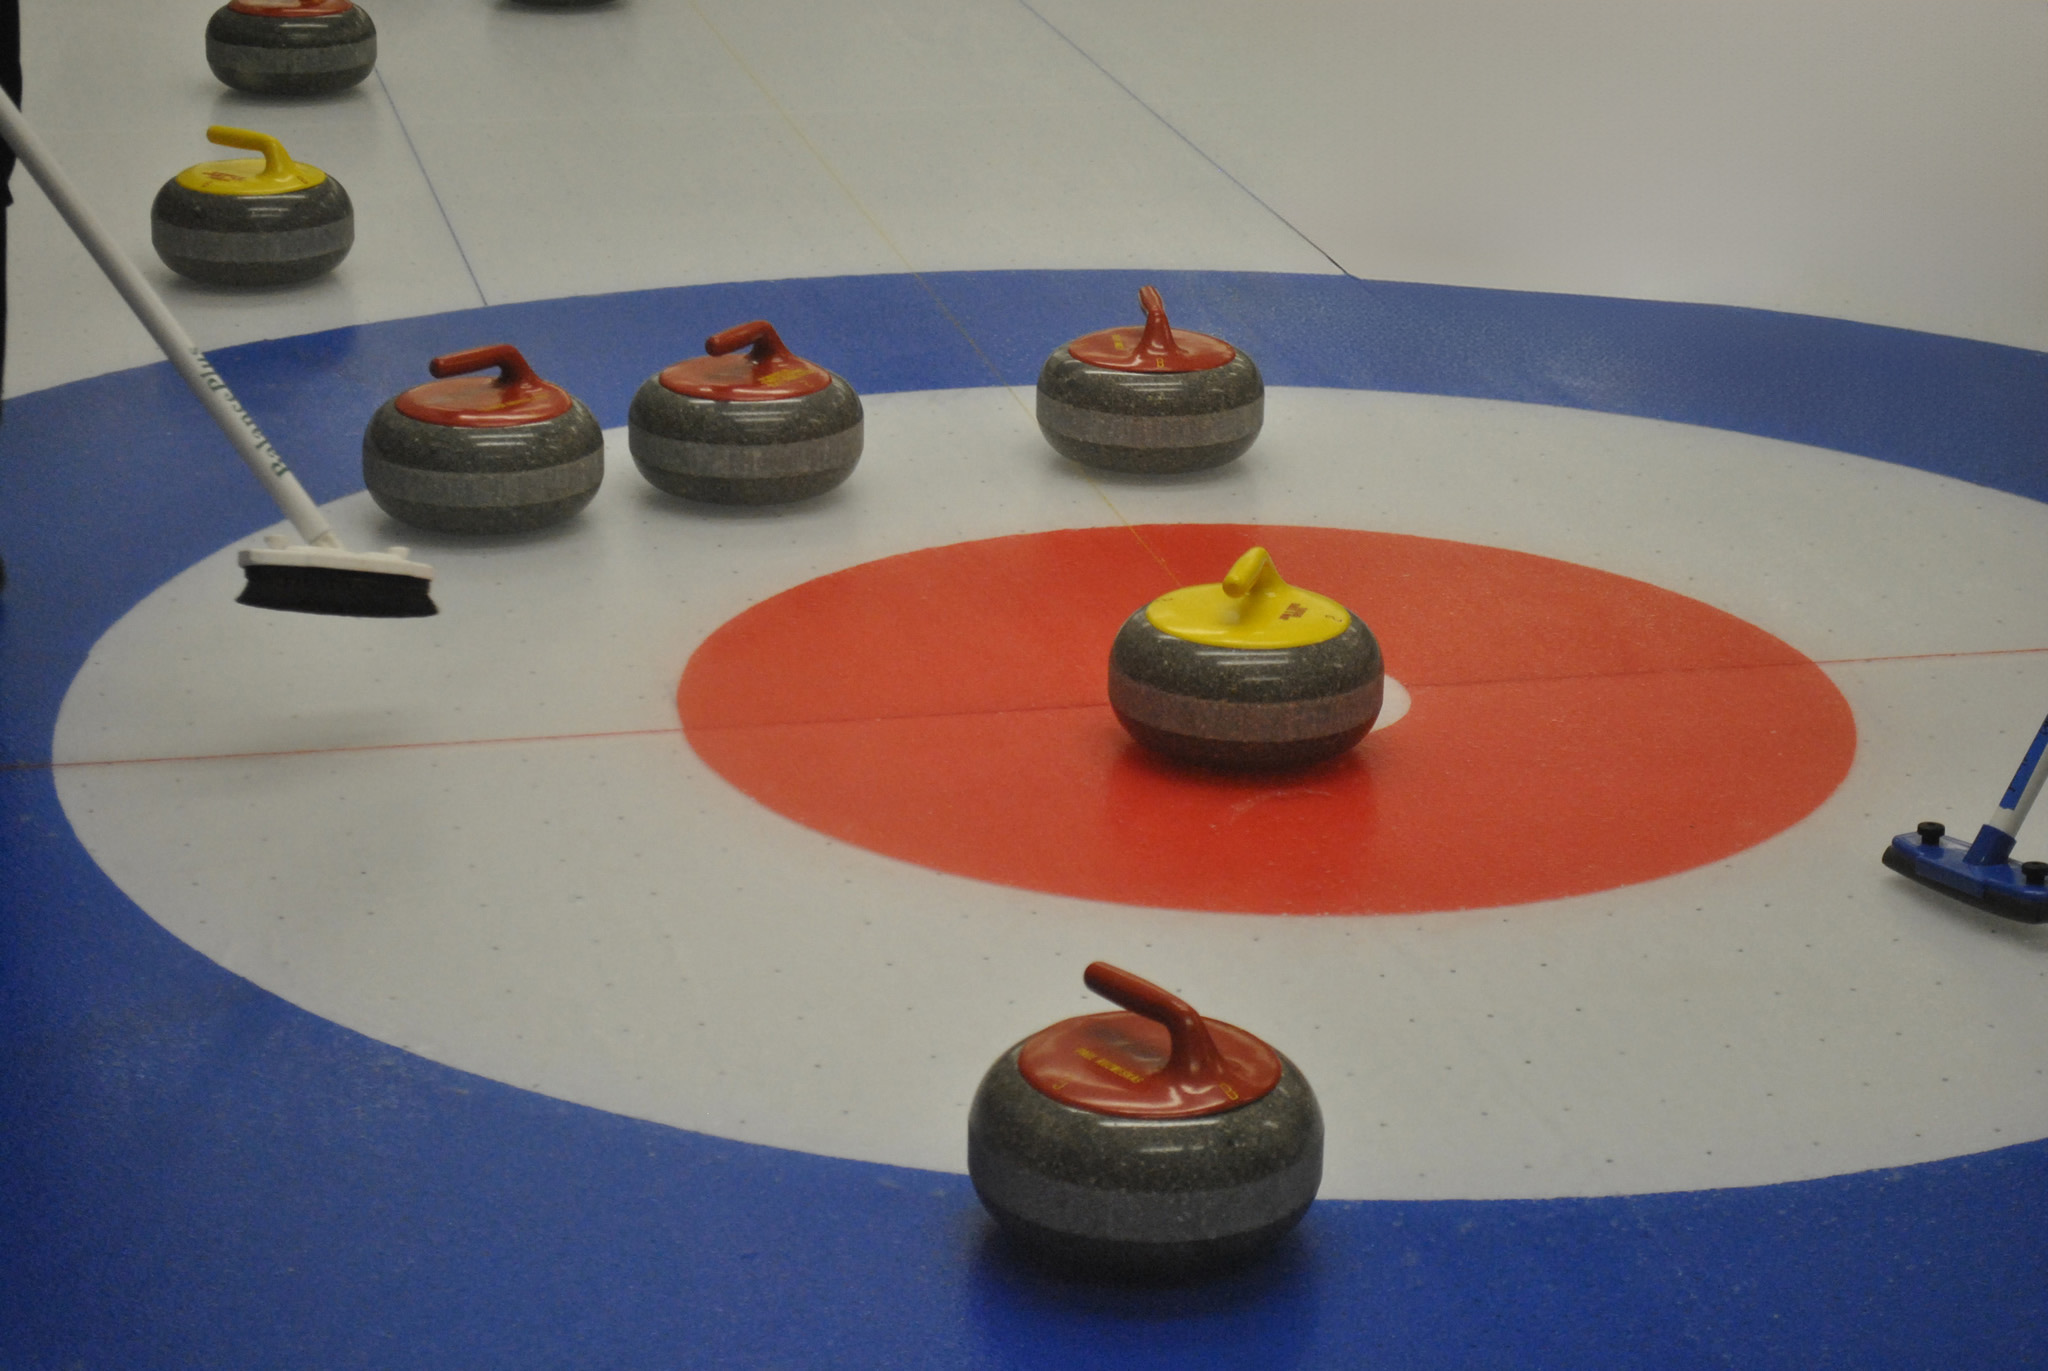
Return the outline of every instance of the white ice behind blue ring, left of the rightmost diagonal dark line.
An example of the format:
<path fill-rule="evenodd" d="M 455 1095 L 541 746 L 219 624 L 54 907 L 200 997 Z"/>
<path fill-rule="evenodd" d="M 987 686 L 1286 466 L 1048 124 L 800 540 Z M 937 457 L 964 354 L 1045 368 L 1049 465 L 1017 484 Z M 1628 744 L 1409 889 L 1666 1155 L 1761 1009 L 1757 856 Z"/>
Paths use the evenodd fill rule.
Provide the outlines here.
<path fill-rule="evenodd" d="M 1014 0 L 588 10 L 381 0 L 377 74 L 319 100 L 242 96 L 203 10 L 29 6 L 27 109 L 203 348 L 479 303 L 1001 266 L 1333 271 Z M 330 277 L 186 285 L 150 201 L 276 133 L 356 207 Z M 16 174 L 6 391 L 156 359 Z"/>

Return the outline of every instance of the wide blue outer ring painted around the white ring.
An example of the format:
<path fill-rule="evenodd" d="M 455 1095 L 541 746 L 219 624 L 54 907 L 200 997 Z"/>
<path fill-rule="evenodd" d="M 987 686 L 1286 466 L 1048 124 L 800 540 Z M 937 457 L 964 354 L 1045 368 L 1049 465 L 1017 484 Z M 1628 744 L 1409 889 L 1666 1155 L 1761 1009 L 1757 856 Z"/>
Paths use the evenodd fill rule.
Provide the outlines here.
<path fill-rule="evenodd" d="M 2048 500 L 2048 357 L 1802 316 L 1149 273 L 1274 385 L 1708 424 Z M 215 355 L 317 498 L 424 361 L 512 340 L 606 424 L 772 318 L 856 389 L 1028 385 L 1135 273 L 637 291 Z M 131 605 L 274 521 L 168 367 L 0 426 L 4 1367 L 1880 1367 L 2048 1357 L 2048 1141 L 1737 1191 L 1319 1203 L 1198 1293 L 1016 1269 L 961 1176 L 731 1144 L 385 1047 L 186 949 L 78 846 L 57 703 Z M 221 586 L 221 594 L 233 594 Z M 1872 857 L 1884 834 L 1872 836 Z M 1872 861 L 1870 879 L 1888 879 Z M 991 1049 L 993 1051 L 993 1049 Z"/>

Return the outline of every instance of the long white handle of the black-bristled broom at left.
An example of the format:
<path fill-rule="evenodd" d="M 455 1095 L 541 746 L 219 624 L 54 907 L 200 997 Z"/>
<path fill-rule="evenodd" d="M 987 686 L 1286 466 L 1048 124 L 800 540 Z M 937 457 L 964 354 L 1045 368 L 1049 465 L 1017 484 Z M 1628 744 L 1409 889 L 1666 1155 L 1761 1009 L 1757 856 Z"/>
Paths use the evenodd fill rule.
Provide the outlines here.
<path fill-rule="evenodd" d="M 72 232 L 78 234 L 78 242 L 86 244 L 86 252 L 100 264 L 106 279 L 121 291 L 121 299 L 129 303 L 141 326 L 156 338 L 156 346 L 164 348 L 164 357 L 170 359 L 170 365 L 178 369 L 184 383 L 193 387 L 199 402 L 213 414 L 213 422 L 236 445 L 242 461 L 264 484 L 276 506 L 285 510 L 285 518 L 299 531 L 299 537 L 319 547 L 340 547 L 340 539 L 328 527 L 326 514 L 305 494 L 305 486 L 299 484 L 299 477 L 291 473 L 285 459 L 270 447 L 270 439 L 262 437 L 256 420 L 250 418 L 242 402 L 227 389 L 227 383 L 213 371 L 213 363 L 199 350 L 199 344 L 178 328 L 178 320 L 172 318 L 162 297 L 150 289 L 150 283 L 141 279 L 135 264 L 121 254 L 121 248 L 113 244 L 106 230 L 98 225 L 92 211 L 78 197 L 78 191 L 57 168 L 55 158 L 43 148 L 43 139 L 35 135 L 35 129 L 29 127 L 29 121 L 20 117 L 20 111 L 4 92 L 0 92 L 0 135 L 6 135 L 8 146 L 14 148 L 14 156 L 35 176 L 35 184 L 43 186 L 43 195 L 57 207 L 63 221 L 72 225 Z"/>

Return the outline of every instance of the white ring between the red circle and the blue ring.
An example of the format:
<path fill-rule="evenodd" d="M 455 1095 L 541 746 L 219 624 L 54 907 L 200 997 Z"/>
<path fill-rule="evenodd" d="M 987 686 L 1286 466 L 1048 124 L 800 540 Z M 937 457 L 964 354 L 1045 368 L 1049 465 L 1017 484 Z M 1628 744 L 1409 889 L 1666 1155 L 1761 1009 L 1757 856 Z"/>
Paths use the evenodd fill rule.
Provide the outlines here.
<path fill-rule="evenodd" d="M 1757 1185 L 2048 1135 L 2048 937 L 1876 863 L 1921 818 L 1974 824 L 2038 725 L 2048 603 L 2009 586 L 2048 576 L 2048 508 L 1575 410 L 1276 389 L 1268 416 L 1217 473 L 1090 484 L 1012 393 L 874 396 L 840 492 L 727 514 L 653 494 L 614 432 L 598 502 L 516 541 L 352 496 L 344 537 L 418 547 L 442 615 L 240 609 L 221 549 L 94 648 L 59 795 L 143 910 L 295 1004 L 750 1141 L 963 1168 L 979 1074 L 1083 1012 L 1096 957 L 1303 1066 L 1329 1197 Z M 1806 822 L 1663 881 L 1257 918 L 877 857 L 735 793 L 676 728 L 688 654 L 768 594 L 1118 514 L 1393 529 L 1669 586 L 1827 662 L 1855 764 Z"/>

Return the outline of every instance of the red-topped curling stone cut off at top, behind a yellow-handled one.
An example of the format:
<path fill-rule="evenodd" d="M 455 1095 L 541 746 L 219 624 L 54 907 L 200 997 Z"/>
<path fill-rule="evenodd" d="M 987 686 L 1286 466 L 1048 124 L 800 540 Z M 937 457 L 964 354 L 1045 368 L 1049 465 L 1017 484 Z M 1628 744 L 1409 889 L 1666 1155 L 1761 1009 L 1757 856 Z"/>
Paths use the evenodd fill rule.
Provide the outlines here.
<path fill-rule="evenodd" d="M 352 0 L 233 0 L 207 20 L 207 66 L 250 94 L 334 94 L 377 66 L 377 25 Z"/>

